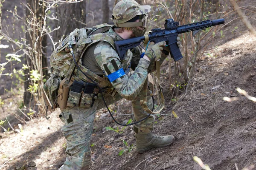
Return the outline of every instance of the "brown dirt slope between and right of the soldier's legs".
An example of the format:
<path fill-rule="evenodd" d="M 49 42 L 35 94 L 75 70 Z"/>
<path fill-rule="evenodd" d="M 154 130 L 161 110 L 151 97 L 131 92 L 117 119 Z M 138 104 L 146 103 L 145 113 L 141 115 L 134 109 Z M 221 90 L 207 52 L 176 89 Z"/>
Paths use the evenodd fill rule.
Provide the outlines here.
<path fill-rule="evenodd" d="M 98 157 L 93 170 L 198 170 L 193 156 L 200 157 L 212 170 L 236 170 L 235 163 L 239 169 L 255 164 L 256 103 L 235 90 L 240 87 L 256 96 L 255 43 L 256 37 L 247 33 L 210 51 L 217 57 L 204 59 L 192 90 L 173 108 L 167 106 L 167 115 L 157 120 L 157 134 L 179 138 L 172 147 L 145 154 L 132 150 L 118 156 L 119 147 L 124 147 L 122 139 L 128 144 L 135 142 L 131 131 L 127 129 L 122 136 L 114 132 L 98 134 L 93 138 Z M 229 103 L 223 101 L 224 96 L 240 100 Z M 180 119 L 175 119 L 172 110 Z M 108 140 L 111 135 L 116 140 Z M 107 139 L 97 140 L 100 136 Z M 105 144 L 112 148 L 102 150 Z"/>

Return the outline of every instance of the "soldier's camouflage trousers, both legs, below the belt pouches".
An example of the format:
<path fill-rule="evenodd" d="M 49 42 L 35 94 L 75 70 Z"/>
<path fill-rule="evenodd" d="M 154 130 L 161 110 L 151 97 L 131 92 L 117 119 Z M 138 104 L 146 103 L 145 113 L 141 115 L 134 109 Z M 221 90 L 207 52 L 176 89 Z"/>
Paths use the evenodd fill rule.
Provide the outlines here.
<path fill-rule="evenodd" d="M 150 95 L 148 95 L 150 96 Z M 122 97 L 116 96 L 104 97 L 107 105 L 110 105 Z M 101 97 L 96 99 L 92 108 L 68 108 L 61 112 L 59 117 L 65 125 L 61 131 L 67 139 L 67 158 L 60 170 L 88 170 L 90 167 L 90 138 L 93 130 L 93 120 L 96 110 L 104 108 L 105 104 Z M 148 99 L 148 107 L 152 108 L 152 100 Z M 140 95 L 132 101 L 134 120 L 143 119 L 148 114 L 140 105 Z M 149 133 L 153 130 L 154 116 L 138 123 L 136 127 L 141 133 Z"/>

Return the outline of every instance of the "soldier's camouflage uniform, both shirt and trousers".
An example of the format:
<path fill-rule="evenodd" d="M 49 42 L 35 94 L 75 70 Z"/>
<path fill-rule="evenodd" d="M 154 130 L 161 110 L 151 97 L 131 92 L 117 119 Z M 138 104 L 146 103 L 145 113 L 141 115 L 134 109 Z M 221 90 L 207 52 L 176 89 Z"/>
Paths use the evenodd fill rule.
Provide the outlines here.
<path fill-rule="evenodd" d="M 131 3 L 130 0 L 123 1 L 125 3 Z M 125 6 L 125 3 L 122 2 L 122 6 Z M 132 1 L 132 3 L 136 2 Z M 118 3 L 117 6 L 119 4 L 120 3 Z M 139 6 L 139 4 L 136 5 Z M 135 7 L 134 11 L 138 11 Z M 139 13 L 146 14 L 150 9 L 150 6 L 143 6 L 140 8 Z M 125 18 L 127 16 L 119 15 L 119 17 Z M 108 35 L 114 41 L 122 40 L 122 38 L 119 37 L 112 28 L 108 31 Z M 148 67 L 151 63 L 146 59 L 140 58 L 140 54 L 141 51 L 137 47 L 134 48 L 132 52 L 128 50 L 125 58 L 120 60 L 118 54 L 108 42 L 100 41 L 87 48 L 87 51 L 84 53 L 81 61 L 85 68 L 100 76 L 109 76 L 119 69 L 129 69 L 131 59 L 137 61 L 137 67 L 133 72 L 130 72 L 128 75 L 124 74 L 113 80 L 111 82 L 113 90 L 110 93 L 103 93 L 107 105 L 110 105 L 122 98 L 132 100 L 135 121 L 143 119 L 148 115 L 140 105 L 140 95 L 141 90 L 143 90 L 143 85 L 146 83 Z M 79 75 L 76 75 L 76 71 L 74 75 L 79 77 Z M 153 107 L 151 99 L 148 99 L 148 106 L 149 108 Z M 102 100 L 102 96 L 99 94 L 98 99 L 95 100 L 91 108 L 67 107 L 67 109 L 61 110 L 59 117 L 65 124 L 62 127 L 62 133 L 67 139 L 67 159 L 60 170 L 89 169 L 90 138 L 93 130 L 93 120 L 95 118 L 96 111 L 104 107 L 105 104 Z M 136 125 L 137 133 L 150 133 L 153 130 L 153 123 L 154 116 L 151 115 L 148 119 L 145 119 Z"/>

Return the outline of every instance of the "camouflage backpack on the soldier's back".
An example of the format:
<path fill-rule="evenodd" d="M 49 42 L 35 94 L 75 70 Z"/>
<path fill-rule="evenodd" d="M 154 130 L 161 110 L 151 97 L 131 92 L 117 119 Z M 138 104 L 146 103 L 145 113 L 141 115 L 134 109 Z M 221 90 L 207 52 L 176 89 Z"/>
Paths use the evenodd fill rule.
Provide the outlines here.
<path fill-rule="evenodd" d="M 92 28 L 76 28 L 60 42 L 58 48 L 52 52 L 50 56 L 50 78 L 44 84 L 44 91 L 49 99 L 49 104 L 52 104 L 52 109 L 58 107 L 57 98 L 62 98 L 62 96 L 59 95 L 62 94 L 60 90 L 63 89 L 62 87 L 60 89 L 60 85 L 64 85 L 64 82 L 70 82 L 70 85 L 71 82 L 73 82 L 71 76 L 76 68 L 76 63 L 73 60 L 72 54 L 70 54 L 70 50 L 67 48 L 68 43 L 73 46 L 76 62 L 79 62 L 85 49 L 94 42 L 107 41 L 114 46 L 113 40 L 111 41 L 111 38 L 108 37 L 107 34 L 98 34 L 108 32 L 111 26 L 112 25 L 101 24 Z M 93 40 L 88 38 L 95 34 L 97 34 L 97 36 Z M 90 74 L 92 74 L 92 72 Z M 72 81 L 70 81 L 70 79 Z M 66 106 L 60 108 L 65 107 Z"/>

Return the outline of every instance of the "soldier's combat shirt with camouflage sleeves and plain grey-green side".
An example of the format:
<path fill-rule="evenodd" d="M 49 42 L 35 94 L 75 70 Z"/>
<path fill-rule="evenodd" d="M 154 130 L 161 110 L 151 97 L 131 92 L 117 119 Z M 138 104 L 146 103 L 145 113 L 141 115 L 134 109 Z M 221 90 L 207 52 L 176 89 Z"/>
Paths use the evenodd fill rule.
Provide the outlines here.
<path fill-rule="evenodd" d="M 112 28 L 108 31 L 108 35 L 112 37 L 114 41 L 122 40 L 122 38 L 119 37 L 119 35 L 116 34 Z M 93 54 L 90 52 L 86 52 L 82 57 L 82 63 L 84 67 L 91 70 L 90 68 L 92 68 L 92 65 L 94 65 L 95 68 L 98 67 L 102 71 L 102 74 L 107 77 L 110 74 L 119 71 L 121 68 L 123 70 L 129 69 L 131 59 L 133 58 L 133 60 L 136 62 L 137 67 L 134 69 L 134 72 L 131 74 L 131 76 L 128 77 L 127 74 L 124 74 L 119 78 L 113 80 L 111 82 L 111 85 L 113 85 L 116 91 L 123 98 L 128 100 L 135 99 L 135 97 L 140 93 L 141 89 L 143 88 L 144 82 L 147 79 L 148 66 L 150 65 L 150 62 L 143 58 L 140 58 L 141 51 L 139 50 L 139 48 L 137 47 L 133 49 L 133 52 L 128 50 L 124 60 L 120 60 L 112 45 L 105 41 L 97 42 L 96 45 L 90 45 L 90 47 L 87 48 L 87 51 L 90 50 L 94 50 Z M 88 60 L 88 58 L 91 59 Z M 96 62 L 91 62 L 92 60 Z M 97 72 L 96 70 L 91 71 Z"/>

